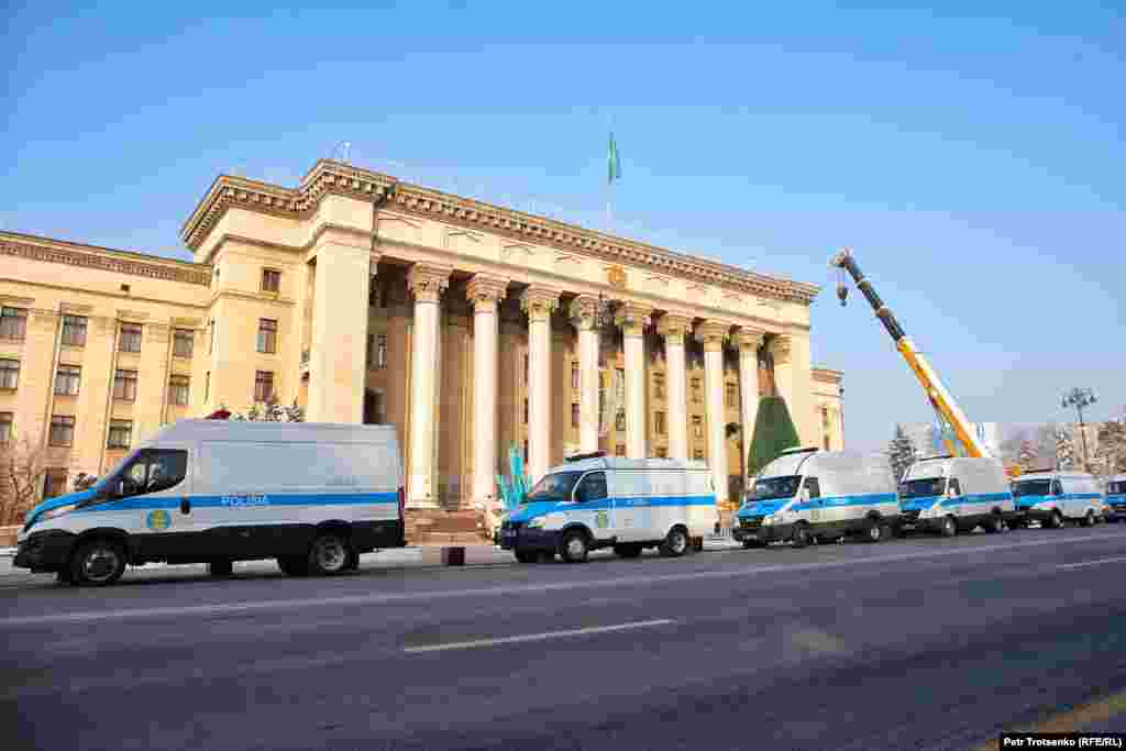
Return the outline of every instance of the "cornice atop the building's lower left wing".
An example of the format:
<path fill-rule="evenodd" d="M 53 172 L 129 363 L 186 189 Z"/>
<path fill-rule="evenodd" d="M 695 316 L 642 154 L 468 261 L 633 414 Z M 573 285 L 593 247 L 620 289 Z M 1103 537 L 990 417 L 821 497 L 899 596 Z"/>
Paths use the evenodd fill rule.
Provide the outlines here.
<path fill-rule="evenodd" d="M 203 287 L 211 278 L 211 268 L 199 263 L 16 232 L 0 232 L 0 254 Z"/>

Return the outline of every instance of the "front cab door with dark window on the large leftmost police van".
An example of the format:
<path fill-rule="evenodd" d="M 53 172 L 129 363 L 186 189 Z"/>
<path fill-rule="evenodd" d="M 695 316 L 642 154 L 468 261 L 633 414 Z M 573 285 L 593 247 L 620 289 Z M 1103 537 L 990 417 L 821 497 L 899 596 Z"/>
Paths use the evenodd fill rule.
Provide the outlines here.
<path fill-rule="evenodd" d="M 191 449 L 161 446 L 137 452 L 106 483 L 91 512 L 92 522 L 129 534 L 135 554 L 161 560 L 186 555 L 198 545 L 198 518 L 191 515 Z"/>

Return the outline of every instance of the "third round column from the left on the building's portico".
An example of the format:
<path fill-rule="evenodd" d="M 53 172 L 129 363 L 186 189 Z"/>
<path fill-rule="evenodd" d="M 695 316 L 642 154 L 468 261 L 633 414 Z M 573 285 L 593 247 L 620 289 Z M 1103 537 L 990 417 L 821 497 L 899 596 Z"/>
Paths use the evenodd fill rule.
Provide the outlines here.
<path fill-rule="evenodd" d="M 528 287 L 520 307 L 528 314 L 528 475 L 531 483 L 547 474 L 552 452 L 552 313 L 560 294 Z"/>

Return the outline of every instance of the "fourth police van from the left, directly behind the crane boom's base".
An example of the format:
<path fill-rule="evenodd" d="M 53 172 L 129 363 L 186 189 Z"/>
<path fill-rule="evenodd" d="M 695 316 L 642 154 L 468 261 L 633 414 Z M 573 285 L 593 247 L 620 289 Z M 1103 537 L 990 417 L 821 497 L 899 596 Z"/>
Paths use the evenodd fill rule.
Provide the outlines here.
<path fill-rule="evenodd" d="M 913 463 L 900 482 L 903 527 L 954 537 L 981 526 L 999 533 L 1016 507 L 997 459 L 937 456 Z"/>

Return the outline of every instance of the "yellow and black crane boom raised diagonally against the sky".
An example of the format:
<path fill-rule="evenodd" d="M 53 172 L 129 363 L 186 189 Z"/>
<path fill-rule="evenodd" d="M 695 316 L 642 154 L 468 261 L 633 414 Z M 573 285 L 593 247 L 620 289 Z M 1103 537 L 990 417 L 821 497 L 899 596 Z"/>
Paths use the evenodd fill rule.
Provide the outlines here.
<path fill-rule="evenodd" d="M 892 340 L 895 342 L 895 348 L 900 350 L 900 355 L 906 360 L 908 366 L 911 372 L 914 373 L 915 378 L 922 385 L 923 392 L 927 394 L 927 399 L 930 400 L 931 406 L 935 411 L 945 420 L 950 428 L 954 430 L 954 435 L 957 436 L 958 440 L 965 446 L 967 456 L 975 457 L 990 457 L 989 449 L 985 448 L 984 444 L 977 440 L 977 435 L 973 429 L 973 424 L 966 419 L 965 413 L 954 401 L 954 396 L 947 391 L 946 386 L 942 384 L 941 378 L 935 372 L 935 368 L 930 366 L 927 358 L 922 356 L 922 352 L 914 346 L 911 338 L 906 336 L 903 331 L 903 327 L 900 322 L 895 320 L 895 315 L 892 314 L 891 309 L 884 304 L 876 294 L 875 288 L 872 283 L 864 278 L 864 274 L 860 272 L 860 267 L 857 266 L 856 260 L 852 254 L 846 248 L 841 252 L 833 256 L 830 261 L 831 266 L 835 266 L 848 271 L 852 280 L 856 281 L 857 288 L 872 305 L 872 310 L 876 312 L 876 318 L 879 319 L 881 323 L 891 334 Z M 841 305 L 844 304 L 844 299 L 848 296 L 848 289 L 841 284 L 838 289 L 838 295 L 841 299 Z M 953 453 L 953 452 L 951 452 Z"/>

